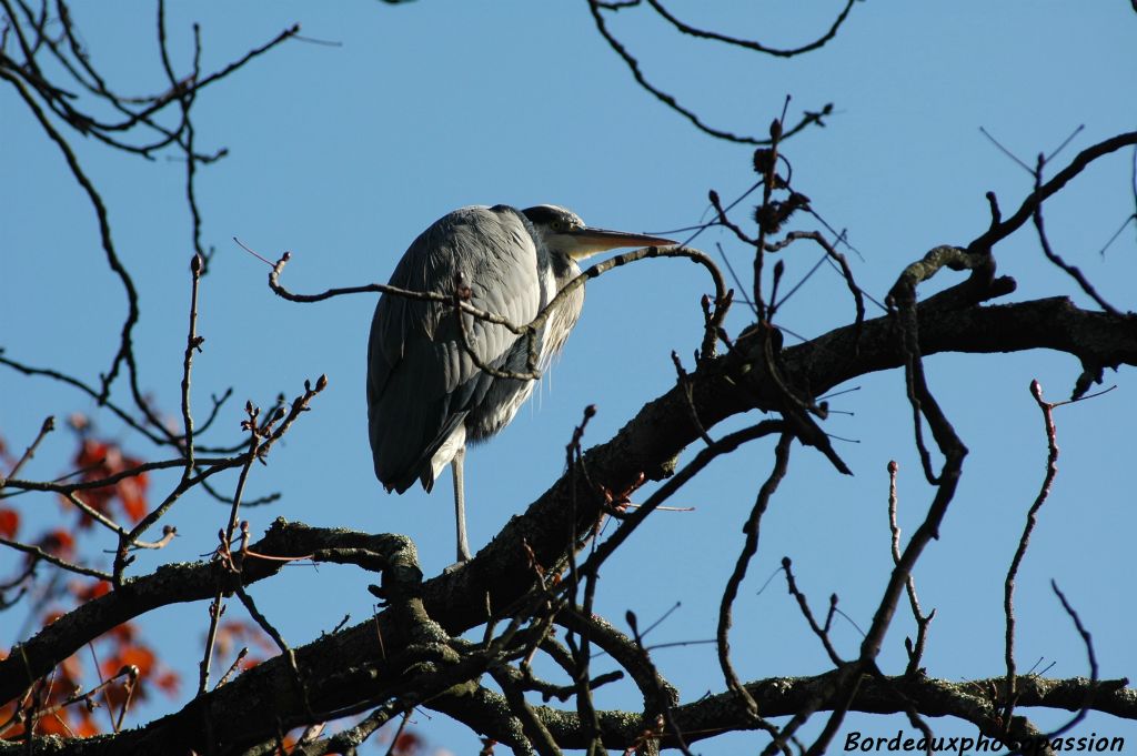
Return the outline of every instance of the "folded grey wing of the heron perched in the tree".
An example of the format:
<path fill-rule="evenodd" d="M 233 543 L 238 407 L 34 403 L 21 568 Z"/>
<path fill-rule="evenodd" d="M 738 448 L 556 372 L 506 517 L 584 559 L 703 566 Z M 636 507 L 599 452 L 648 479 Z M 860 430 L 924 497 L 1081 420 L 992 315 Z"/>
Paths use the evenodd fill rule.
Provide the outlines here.
<path fill-rule="evenodd" d="M 471 288 L 474 307 L 515 324 L 537 315 L 545 296 L 537 249 L 520 213 L 504 206 L 450 213 L 410 244 L 390 283 L 450 294 L 459 280 Z M 517 337 L 464 317 L 479 362 L 499 367 Z M 375 475 L 402 492 L 424 475 L 495 379 L 463 349 L 453 307 L 438 302 L 384 294 L 375 307 L 367 351 Z"/>

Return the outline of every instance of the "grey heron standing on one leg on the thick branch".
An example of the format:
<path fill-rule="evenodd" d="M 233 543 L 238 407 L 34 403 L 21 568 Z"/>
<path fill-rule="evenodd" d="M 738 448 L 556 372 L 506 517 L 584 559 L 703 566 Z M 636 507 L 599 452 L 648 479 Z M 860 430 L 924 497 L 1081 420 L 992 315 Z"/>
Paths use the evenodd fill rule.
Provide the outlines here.
<path fill-rule="evenodd" d="M 657 236 L 591 229 L 554 205 L 517 210 L 464 207 L 424 231 L 402 255 L 390 285 L 453 294 L 470 288 L 470 304 L 522 325 L 580 275 L 576 261 L 621 247 L 665 246 Z M 557 305 L 538 334 L 545 369 L 576 325 L 583 286 Z M 375 476 L 402 493 L 422 482 L 430 491 L 442 468 L 454 473 L 458 562 L 470 558 L 463 491 L 467 442 L 509 424 L 533 391 L 532 381 L 495 376 L 463 348 L 453 306 L 383 294 L 367 344 L 367 419 Z M 464 315 L 478 362 L 500 372 L 528 372 L 524 337 Z"/>

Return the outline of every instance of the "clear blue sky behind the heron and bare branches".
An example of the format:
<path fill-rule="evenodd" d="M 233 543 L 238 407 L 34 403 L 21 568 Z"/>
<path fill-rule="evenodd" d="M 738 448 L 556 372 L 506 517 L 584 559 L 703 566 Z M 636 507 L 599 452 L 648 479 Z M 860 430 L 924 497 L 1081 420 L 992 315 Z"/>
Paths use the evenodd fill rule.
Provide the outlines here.
<path fill-rule="evenodd" d="M 691 23 L 777 45 L 812 39 L 837 3 L 732 3 L 707 9 L 677 3 Z M 94 60 L 127 92 L 164 88 L 149 3 L 75 9 Z M 246 398 L 267 405 L 294 394 L 304 379 L 329 375 L 314 410 L 255 471 L 254 493 L 279 490 L 281 502 L 247 510 L 254 531 L 284 516 L 314 525 L 412 535 L 428 572 L 453 549 L 449 485 L 433 496 L 383 493 L 366 442 L 364 372 L 374 300 L 351 297 L 300 306 L 265 286 L 267 268 L 230 239 L 269 258 L 291 250 L 284 282 L 294 291 L 385 282 L 395 263 L 428 224 L 458 206 L 555 202 L 605 227 L 664 232 L 706 218 L 708 189 L 737 197 L 753 182 L 750 149 L 712 140 L 640 90 L 596 33 L 583 3 L 463 3 L 422 0 L 405 7 L 341 3 L 214 3 L 168 9 L 175 67 L 185 70 L 190 24 L 202 30 L 205 69 L 223 66 L 291 23 L 335 47 L 292 42 L 239 75 L 204 91 L 198 103 L 202 149 L 230 156 L 199 174 L 204 239 L 216 246 L 204 282 L 199 331 L 207 339 L 196 363 L 199 412 L 209 393 L 232 385 L 236 401 L 223 417 L 234 438 Z M 1032 163 L 1079 125 L 1085 130 L 1057 158 L 1137 123 L 1137 15 L 1122 2 L 857 3 L 837 40 L 792 60 L 692 41 L 648 9 L 609 17 L 647 75 L 735 132 L 762 134 L 792 94 L 800 108 L 835 103 L 825 128 L 786 146 L 798 191 L 832 226 L 846 229 L 860 284 L 881 299 L 907 263 L 940 243 L 962 243 L 988 223 L 984 192 L 1004 208 L 1030 191 L 1031 177 L 979 131 L 993 133 Z M 80 141 L 80 159 L 100 185 L 115 239 L 141 290 L 136 348 L 143 384 L 176 414 L 189 285 L 189 217 L 183 167 L 124 159 Z M 1098 291 L 1131 309 L 1137 282 L 1132 226 L 1098 251 L 1134 211 L 1131 153 L 1102 161 L 1047 206 L 1052 241 Z M 97 247 L 89 205 L 69 183 L 58 151 L 36 131 L 10 89 L 0 89 L 0 344 L 14 358 L 53 365 L 94 380 L 109 365 L 124 302 Z M 14 177 L 16 177 L 14 180 Z M 744 203 L 745 206 L 745 203 Z M 737 216 L 745 221 L 746 213 Z M 721 244 L 748 267 L 731 236 L 704 233 L 697 247 Z M 1067 294 L 1073 285 L 1045 263 L 1027 232 L 997 249 L 1001 273 L 1013 275 L 1011 300 Z M 787 256 L 796 282 L 813 250 Z M 958 279 L 945 272 L 928 293 Z M 490 445 L 467 456 L 471 546 L 478 548 L 545 490 L 562 470 L 564 443 L 582 408 L 599 414 L 586 442 L 600 442 L 645 401 L 674 382 L 671 350 L 690 355 L 700 337 L 698 299 L 708 290 L 689 264 L 654 260 L 591 283 L 580 325 L 529 407 Z M 1085 298 L 1074 296 L 1080 304 Z M 879 311 L 870 310 L 870 315 Z M 729 329 L 747 323 L 736 307 Z M 825 267 L 787 304 L 781 323 L 811 338 L 848 323 L 844 283 Z M 787 339 L 792 343 L 792 338 Z M 916 571 L 926 607 L 938 609 L 926 666 L 948 679 L 1003 671 L 1002 580 L 1027 507 L 1044 471 L 1045 438 L 1027 387 L 1038 379 L 1047 398 L 1069 394 L 1079 373 L 1063 355 L 937 356 L 931 388 L 971 449 L 960 492 Z M 1126 477 L 1132 457 L 1137 389 L 1130 372 L 1119 389 L 1057 413 L 1060 473 L 1019 578 L 1019 665 L 1035 659 L 1052 676 L 1087 674 L 1085 651 L 1049 591 L 1057 580 L 1094 637 L 1104 676 L 1137 672 L 1131 628 L 1130 554 L 1137 515 Z M 47 414 L 92 412 L 59 387 L 0 373 L 0 433 L 14 448 L 34 437 Z M 760 553 L 736 608 L 736 666 L 744 679 L 812 674 L 827 659 L 774 578 L 782 556 L 799 584 L 823 607 L 836 592 L 845 614 L 865 628 L 890 567 L 886 464 L 901 464 L 901 522 L 921 521 L 932 491 L 919 473 L 911 415 L 899 373 L 866 376 L 832 401 L 827 430 L 853 467 L 838 475 L 816 454 L 796 448 L 790 474 L 764 521 Z M 102 427 L 147 455 L 141 440 Z M 721 434 L 739 423 L 715 429 Z M 695 513 L 654 516 L 607 567 L 598 612 L 613 621 L 626 609 L 641 622 L 681 606 L 649 637 L 655 642 L 713 638 L 721 585 L 741 548 L 739 527 L 771 465 L 771 443 L 755 443 L 683 489 L 677 504 Z M 25 474 L 59 474 L 72 452 L 65 433 L 50 437 Z M 235 477 L 223 485 L 234 485 Z M 30 497 L 28 497 L 30 498 Z M 172 512 L 181 537 L 138 570 L 196 559 L 215 546 L 227 510 L 204 496 Z M 57 517 L 43 500 L 38 513 Z M 28 514 L 28 516 L 32 516 Z M 0 563 L 3 564 L 3 563 Z M 290 568 L 258 585 L 263 610 L 294 643 L 330 630 L 350 613 L 372 610 L 365 575 L 322 566 Z M 231 610 L 236 610 L 234 606 Z M 204 605 L 157 613 L 150 632 L 189 681 L 204 634 Z M 903 668 L 903 614 L 886 640 L 881 664 Z M 0 635 L 0 643 L 11 638 Z M 860 633 L 839 622 L 835 641 L 855 654 Z M 197 641 L 194 640 L 194 643 Z M 661 649 L 661 671 L 692 700 L 722 689 L 712 646 Z M 601 670 L 603 671 L 603 670 Z M 192 686 L 186 684 L 186 691 Z M 605 691 L 601 706 L 633 707 L 630 689 Z M 1041 726 L 1064 715 L 1039 717 Z M 432 743 L 472 753 L 467 731 L 440 715 L 417 717 Z M 822 720 L 819 720 L 821 722 Z M 945 734 L 971 734 L 958 722 L 932 722 Z M 901 721 L 850 717 L 846 731 L 895 732 Z M 1079 726 L 1088 734 L 1137 728 L 1107 717 Z M 705 741 L 702 754 L 753 751 L 761 740 L 733 736 Z"/>

